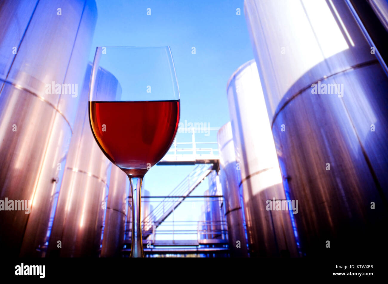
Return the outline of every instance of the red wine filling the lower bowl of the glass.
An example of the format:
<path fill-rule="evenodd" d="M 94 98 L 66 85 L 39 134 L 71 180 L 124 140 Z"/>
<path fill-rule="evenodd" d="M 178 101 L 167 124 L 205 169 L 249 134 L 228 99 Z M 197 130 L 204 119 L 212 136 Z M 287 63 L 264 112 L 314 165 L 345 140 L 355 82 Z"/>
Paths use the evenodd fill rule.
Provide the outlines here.
<path fill-rule="evenodd" d="M 113 164 L 144 176 L 170 148 L 179 123 L 179 100 L 89 102 L 94 137 Z"/>

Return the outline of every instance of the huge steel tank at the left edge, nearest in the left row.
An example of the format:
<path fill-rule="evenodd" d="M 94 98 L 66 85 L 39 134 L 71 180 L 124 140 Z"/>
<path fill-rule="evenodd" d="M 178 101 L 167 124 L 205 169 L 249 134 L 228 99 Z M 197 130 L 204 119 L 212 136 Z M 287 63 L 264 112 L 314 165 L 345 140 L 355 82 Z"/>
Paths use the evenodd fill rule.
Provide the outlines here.
<path fill-rule="evenodd" d="M 93 0 L 0 3 L 0 195 L 32 203 L 0 214 L 3 256 L 45 241 L 96 17 Z"/>

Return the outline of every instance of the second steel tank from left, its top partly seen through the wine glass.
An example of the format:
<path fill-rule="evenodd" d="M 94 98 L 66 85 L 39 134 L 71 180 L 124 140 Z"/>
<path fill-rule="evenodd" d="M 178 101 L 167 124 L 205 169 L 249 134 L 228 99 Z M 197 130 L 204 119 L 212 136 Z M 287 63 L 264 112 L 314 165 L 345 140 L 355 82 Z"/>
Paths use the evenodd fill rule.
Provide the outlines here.
<path fill-rule="evenodd" d="M 90 129 L 87 84 L 90 72 L 89 64 L 55 210 L 49 257 L 98 256 L 110 170 L 114 165 L 97 145 Z M 111 73 L 101 68 L 97 72 L 102 93 L 121 93 L 120 83 Z"/>

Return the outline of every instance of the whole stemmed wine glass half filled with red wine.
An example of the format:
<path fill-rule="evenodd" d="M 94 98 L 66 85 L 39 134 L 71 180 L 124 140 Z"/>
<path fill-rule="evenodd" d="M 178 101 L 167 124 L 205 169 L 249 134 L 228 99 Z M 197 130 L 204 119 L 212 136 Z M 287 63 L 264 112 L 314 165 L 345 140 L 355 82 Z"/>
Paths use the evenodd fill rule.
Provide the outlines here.
<path fill-rule="evenodd" d="M 101 150 L 130 180 L 130 257 L 144 257 L 140 217 L 143 177 L 167 153 L 177 134 L 179 117 L 178 82 L 169 46 L 97 47 L 90 76 L 89 121 Z"/>

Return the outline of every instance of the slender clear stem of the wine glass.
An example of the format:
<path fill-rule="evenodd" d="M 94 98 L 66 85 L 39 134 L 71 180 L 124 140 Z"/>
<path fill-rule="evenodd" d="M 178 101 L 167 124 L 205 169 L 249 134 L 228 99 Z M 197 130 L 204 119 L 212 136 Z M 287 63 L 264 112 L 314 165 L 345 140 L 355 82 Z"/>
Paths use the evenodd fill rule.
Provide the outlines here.
<path fill-rule="evenodd" d="M 132 189 L 132 247 L 130 257 L 145 257 L 142 240 L 142 219 L 140 197 L 142 191 L 142 177 L 129 177 Z"/>

